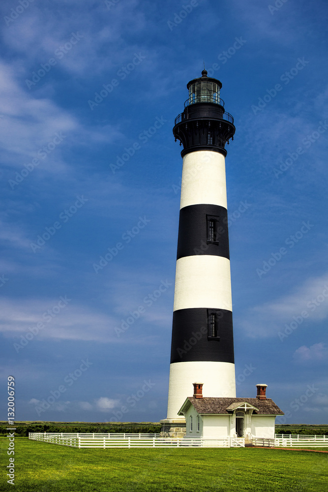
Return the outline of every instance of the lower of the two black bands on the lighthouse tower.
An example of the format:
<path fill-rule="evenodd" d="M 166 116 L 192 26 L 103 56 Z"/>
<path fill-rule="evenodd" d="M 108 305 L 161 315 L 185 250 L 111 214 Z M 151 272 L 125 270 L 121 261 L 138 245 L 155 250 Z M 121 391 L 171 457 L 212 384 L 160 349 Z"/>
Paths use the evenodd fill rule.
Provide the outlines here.
<path fill-rule="evenodd" d="M 210 339 L 208 312 L 213 309 L 195 307 L 173 313 L 171 364 L 174 362 L 230 362 L 234 364 L 232 312 L 218 313 L 219 339 Z"/>

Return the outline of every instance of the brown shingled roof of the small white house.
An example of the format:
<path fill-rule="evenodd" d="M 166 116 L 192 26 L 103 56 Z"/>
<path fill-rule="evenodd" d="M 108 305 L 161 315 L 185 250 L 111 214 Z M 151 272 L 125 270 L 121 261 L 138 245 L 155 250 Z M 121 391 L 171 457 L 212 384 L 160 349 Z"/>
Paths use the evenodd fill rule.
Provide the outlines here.
<path fill-rule="evenodd" d="M 258 408 L 253 411 L 253 415 L 285 415 L 282 410 L 270 398 L 259 400 L 258 398 L 193 398 L 188 400 L 200 414 L 227 414 L 227 408 L 233 403 L 242 403 L 246 401 Z M 184 405 L 185 406 L 185 403 Z M 182 407 L 183 408 L 183 407 Z"/>

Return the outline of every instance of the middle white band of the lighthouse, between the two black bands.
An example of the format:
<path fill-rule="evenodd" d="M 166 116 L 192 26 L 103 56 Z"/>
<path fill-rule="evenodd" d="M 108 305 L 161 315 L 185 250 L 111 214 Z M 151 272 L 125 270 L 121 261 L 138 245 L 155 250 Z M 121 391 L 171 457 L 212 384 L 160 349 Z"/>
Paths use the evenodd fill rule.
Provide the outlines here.
<path fill-rule="evenodd" d="M 230 261 L 194 255 L 177 260 L 174 310 L 212 307 L 232 311 Z"/>

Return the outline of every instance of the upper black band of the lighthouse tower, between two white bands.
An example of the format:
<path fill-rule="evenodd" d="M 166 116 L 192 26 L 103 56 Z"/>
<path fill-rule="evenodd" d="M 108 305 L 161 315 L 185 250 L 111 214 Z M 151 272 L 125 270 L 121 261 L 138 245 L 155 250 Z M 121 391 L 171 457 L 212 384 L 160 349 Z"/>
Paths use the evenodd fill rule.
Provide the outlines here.
<path fill-rule="evenodd" d="M 208 220 L 217 219 L 216 238 L 209 241 Z M 220 205 L 198 204 L 180 210 L 177 259 L 209 254 L 229 259 L 227 209 Z"/>

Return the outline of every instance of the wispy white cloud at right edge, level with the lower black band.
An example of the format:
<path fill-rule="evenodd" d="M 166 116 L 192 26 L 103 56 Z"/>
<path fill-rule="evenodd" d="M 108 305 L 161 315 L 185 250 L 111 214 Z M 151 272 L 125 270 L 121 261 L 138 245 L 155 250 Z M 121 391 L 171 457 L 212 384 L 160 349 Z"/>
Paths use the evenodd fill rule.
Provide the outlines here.
<path fill-rule="evenodd" d="M 301 313 L 305 311 L 308 316 L 303 317 Z M 293 321 L 301 325 L 307 319 L 322 321 L 327 317 L 328 274 L 325 274 L 308 279 L 294 293 L 249 308 L 239 324 L 247 336 L 266 338 L 276 336 L 285 324 Z"/>

